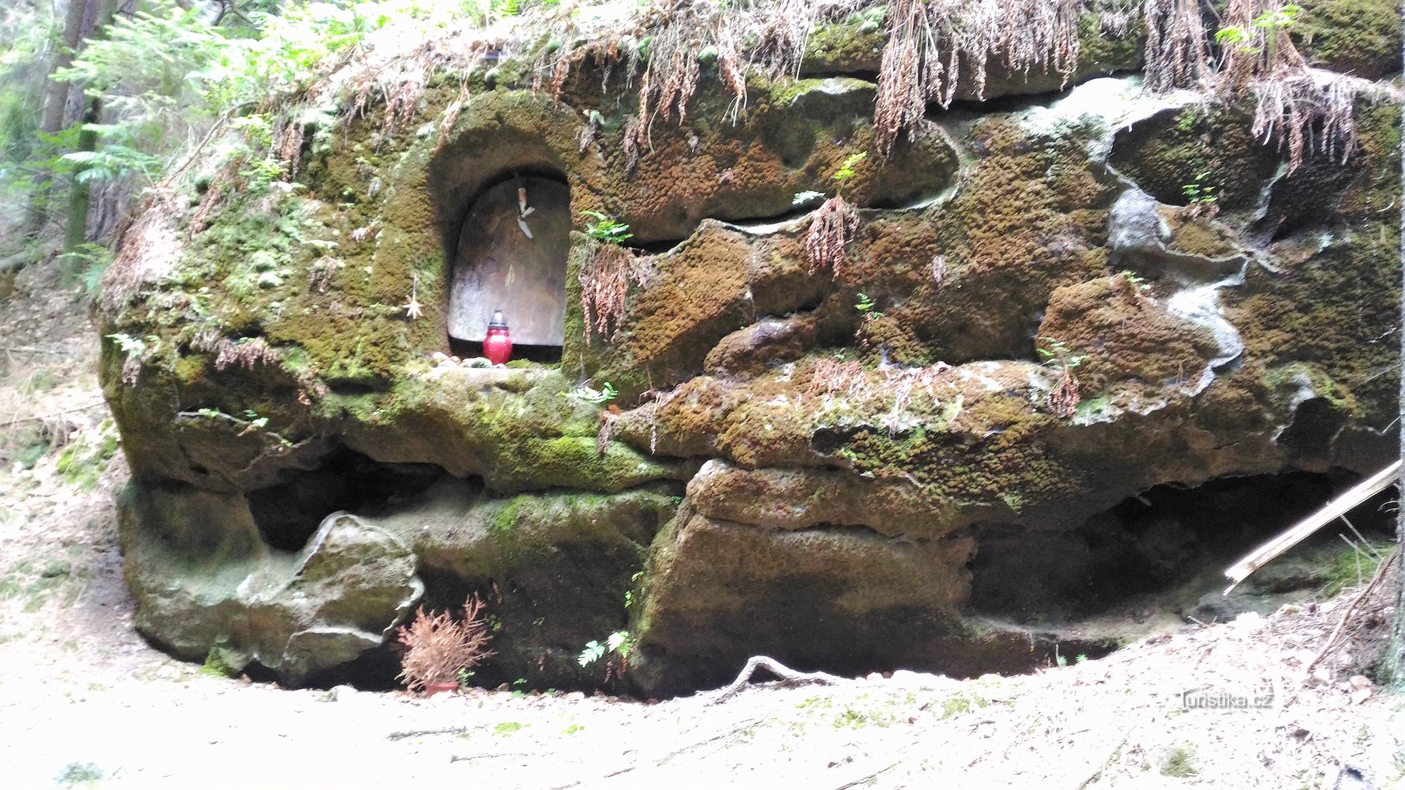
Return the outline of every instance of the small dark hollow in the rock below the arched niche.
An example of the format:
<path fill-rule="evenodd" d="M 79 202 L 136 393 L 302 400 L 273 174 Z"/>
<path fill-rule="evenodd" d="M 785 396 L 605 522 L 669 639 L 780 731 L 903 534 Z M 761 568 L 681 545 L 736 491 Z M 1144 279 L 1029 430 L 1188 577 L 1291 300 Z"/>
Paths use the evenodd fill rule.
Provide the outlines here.
<path fill-rule="evenodd" d="M 414 497 L 444 474 L 431 463 L 378 463 L 343 449 L 316 469 L 284 470 L 277 486 L 249 491 L 246 498 L 264 542 L 299 551 L 327 515 Z"/>

